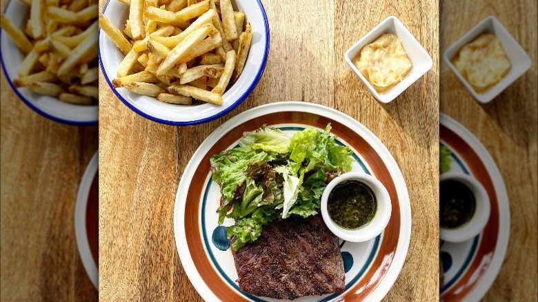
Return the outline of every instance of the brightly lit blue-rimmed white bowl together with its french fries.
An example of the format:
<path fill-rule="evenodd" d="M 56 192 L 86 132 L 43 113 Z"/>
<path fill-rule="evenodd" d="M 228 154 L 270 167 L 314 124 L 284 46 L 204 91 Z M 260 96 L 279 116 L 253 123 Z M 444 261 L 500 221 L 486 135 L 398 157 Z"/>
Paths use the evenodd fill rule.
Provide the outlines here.
<path fill-rule="evenodd" d="M 255 88 L 269 50 L 259 0 L 109 0 L 101 69 L 143 117 L 189 125 L 226 114 Z"/>

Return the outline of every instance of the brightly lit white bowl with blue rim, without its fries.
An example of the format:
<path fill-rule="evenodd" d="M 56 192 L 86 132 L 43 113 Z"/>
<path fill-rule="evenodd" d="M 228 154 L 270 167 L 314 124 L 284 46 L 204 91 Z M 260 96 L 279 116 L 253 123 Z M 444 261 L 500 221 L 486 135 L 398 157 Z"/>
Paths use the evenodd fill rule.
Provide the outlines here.
<path fill-rule="evenodd" d="M 222 105 L 175 105 L 157 101 L 155 97 L 129 92 L 125 88 L 114 88 L 112 80 L 116 78 L 116 70 L 125 56 L 110 37 L 99 30 L 99 62 L 112 92 L 142 117 L 169 125 L 205 123 L 236 108 L 255 88 L 266 66 L 269 54 L 269 25 L 261 0 L 235 0 L 232 3 L 235 4 L 236 10 L 245 12 L 247 21 L 252 25 L 252 44 L 239 79 L 222 95 Z M 129 17 L 129 7 L 118 0 L 108 0 L 103 14 L 114 26 L 123 30 Z"/>

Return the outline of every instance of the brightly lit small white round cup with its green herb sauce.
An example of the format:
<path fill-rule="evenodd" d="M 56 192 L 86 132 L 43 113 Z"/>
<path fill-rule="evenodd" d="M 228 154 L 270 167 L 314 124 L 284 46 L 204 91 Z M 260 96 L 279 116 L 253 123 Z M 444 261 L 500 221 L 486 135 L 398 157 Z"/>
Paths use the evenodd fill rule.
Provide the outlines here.
<path fill-rule="evenodd" d="M 375 177 L 349 172 L 333 179 L 321 196 L 321 216 L 329 230 L 351 242 L 374 239 L 385 230 L 392 204 Z"/>

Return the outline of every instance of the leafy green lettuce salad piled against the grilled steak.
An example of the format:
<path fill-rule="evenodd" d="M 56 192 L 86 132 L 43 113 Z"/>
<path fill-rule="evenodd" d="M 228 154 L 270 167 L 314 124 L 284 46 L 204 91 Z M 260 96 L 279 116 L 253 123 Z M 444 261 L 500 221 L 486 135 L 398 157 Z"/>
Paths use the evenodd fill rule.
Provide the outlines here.
<path fill-rule="evenodd" d="M 290 137 L 263 125 L 243 133 L 238 147 L 211 157 L 212 180 L 222 193 L 219 224 L 235 220 L 226 228 L 235 251 L 255 241 L 270 221 L 319 212 L 326 185 L 351 170 L 353 161 L 330 129 L 306 128 Z"/>

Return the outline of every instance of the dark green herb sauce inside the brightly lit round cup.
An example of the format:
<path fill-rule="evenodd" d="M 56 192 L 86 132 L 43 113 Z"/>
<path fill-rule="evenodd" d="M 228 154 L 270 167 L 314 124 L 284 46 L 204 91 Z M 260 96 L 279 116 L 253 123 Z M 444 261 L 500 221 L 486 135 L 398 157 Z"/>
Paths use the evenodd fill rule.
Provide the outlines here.
<path fill-rule="evenodd" d="M 368 185 L 351 180 L 332 189 L 327 210 L 330 219 L 341 228 L 357 230 L 374 218 L 377 201 Z"/>

